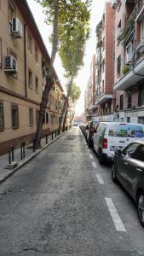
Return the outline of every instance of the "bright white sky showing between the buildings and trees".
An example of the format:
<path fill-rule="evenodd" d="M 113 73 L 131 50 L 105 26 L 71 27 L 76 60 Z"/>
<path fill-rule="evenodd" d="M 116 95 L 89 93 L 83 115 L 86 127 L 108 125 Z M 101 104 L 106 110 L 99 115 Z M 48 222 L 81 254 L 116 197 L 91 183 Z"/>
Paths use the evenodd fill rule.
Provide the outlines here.
<path fill-rule="evenodd" d="M 85 55 L 84 55 L 84 67 L 78 73 L 77 78 L 74 82 L 81 88 L 81 96 L 75 108 L 75 113 L 80 114 L 84 112 L 84 91 L 86 84 L 89 79 L 90 63 L 92 61 L 92 56 L 95 55 L 95 27 L 100 22 L 104 3 L 106 0 L 93 0 L 91 7 L 91 19 L 90 19 L 90 37 L 86 44 Z M 49 55 L 51 54 L 51 44 L 49 43 L 49 26 L 44 23 L 45 15 L 43 14 L 43 8 L 35 0 L 27 0 L 29 7 L 32 11 L 32 15 L 36 20 L 37 27 L 41 32 L 43 42 L 46 45 Z M 58 74 L 61 85 L 64 87 L 66 84 L 66 79 L 64 79 L 64 70 L 62 68 L 60 58 L 57 55 L 54 63 L 55 71 Z"/>

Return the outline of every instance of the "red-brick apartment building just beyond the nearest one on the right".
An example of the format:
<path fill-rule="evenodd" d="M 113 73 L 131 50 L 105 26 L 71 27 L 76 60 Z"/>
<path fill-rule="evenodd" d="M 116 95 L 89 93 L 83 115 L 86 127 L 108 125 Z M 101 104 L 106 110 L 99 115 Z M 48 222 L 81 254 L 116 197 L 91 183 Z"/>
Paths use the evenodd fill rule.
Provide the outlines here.
<path fill-rule="evenodd" d="M 114 10 L 105 4 L 96 26 L 95 115 L 100 120 L 113 119 Z"/>

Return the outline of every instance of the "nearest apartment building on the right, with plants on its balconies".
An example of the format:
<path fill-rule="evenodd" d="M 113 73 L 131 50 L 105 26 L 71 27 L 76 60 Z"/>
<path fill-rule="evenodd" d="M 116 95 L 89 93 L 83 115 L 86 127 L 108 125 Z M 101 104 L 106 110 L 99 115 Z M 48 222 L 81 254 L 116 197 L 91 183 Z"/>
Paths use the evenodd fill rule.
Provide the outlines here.
<path fill-rule="evenodd" d="M 144 124 L 144 1 L 112 1 L 115 11 L 114 119 Z"/>

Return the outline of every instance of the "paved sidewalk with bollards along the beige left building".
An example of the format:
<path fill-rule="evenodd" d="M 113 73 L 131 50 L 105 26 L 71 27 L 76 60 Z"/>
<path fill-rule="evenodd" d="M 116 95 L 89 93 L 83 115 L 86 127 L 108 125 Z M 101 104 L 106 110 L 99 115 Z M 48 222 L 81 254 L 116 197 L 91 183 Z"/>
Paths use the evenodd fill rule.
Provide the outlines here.
<path fill-rule="evenodd" d="M 51 143 L 54 143 L 59 137 L 61 137 L 66 131 L 61 133 L 59 136 L 52 137 L 51 135 L 48 137 L 48 143 L 46 144 L 46 138 L 44 137 L 41 140 L 41 149 L 37 149 L 35 152 L 32 150 L 32 144 L 26 145 L 25 148 L 25 159 L 21 160 L 20 148 L 14 149 L 14 161 L 17 162 L 17 167 L 13 170 L 9 170 L 6 166 L 9 164 L 9 154 L 3 154 L 0 156 L 0 183 L 3 183 L 9 176 L 11 176 L 14 172 L 20 169 L 21 166 L 24 166 L 29 160 L 32 160 L 37 154 L 39 154 L 44 148 L 47 148 Z"/>

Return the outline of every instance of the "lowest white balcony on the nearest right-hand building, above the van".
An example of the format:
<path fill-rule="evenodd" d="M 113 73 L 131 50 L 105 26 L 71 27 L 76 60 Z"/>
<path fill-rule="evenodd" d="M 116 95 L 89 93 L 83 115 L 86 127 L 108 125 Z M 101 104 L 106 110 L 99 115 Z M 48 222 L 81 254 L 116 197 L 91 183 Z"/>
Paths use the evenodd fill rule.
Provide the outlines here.
<path fill-rule="evenodd" d="M 137 74 L 137 75 L 136 75 Z M 144 79 L 144 58 L 137 62 L 134 68 L 131 68 L 125 76 L 118 81 L 113 87 L 114 90 L 126 90 L 131 85 Z"/>

